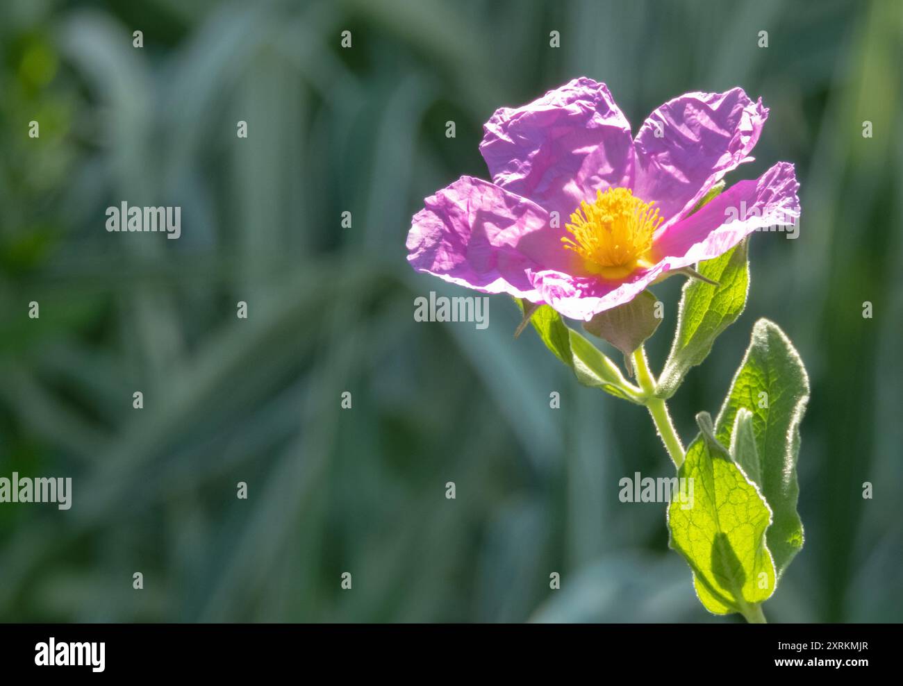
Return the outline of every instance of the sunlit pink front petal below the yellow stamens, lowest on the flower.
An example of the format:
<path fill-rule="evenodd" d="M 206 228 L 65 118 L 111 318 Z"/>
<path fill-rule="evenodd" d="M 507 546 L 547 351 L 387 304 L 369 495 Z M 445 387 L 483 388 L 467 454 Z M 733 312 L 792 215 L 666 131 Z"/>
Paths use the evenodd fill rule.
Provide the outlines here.
<path fill-rule="evenodd" d="M 602 311 L 632 301 L 666 270 L 666 263 L 656 264 L 621 282 L 545 270 L 531 274 L 531 281 L 542 300 L 554 310 L 573 320 L 589 321 Z"/>

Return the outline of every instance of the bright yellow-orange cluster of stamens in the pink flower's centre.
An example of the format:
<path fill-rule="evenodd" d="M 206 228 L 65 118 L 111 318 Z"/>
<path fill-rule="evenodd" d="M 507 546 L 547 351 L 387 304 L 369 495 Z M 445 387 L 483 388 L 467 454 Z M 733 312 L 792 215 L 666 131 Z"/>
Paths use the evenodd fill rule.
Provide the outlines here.
<path fill-rule="evenodd" d="M 654 202 L 643 202 L 626 188 L 596 191 L 590 204 L 585 200 L 573 211 L 564 227 L 571 236 L 562 238 L 565 250 L 573 250 L 591 273 L 620 279 L 638 266 L 652 249 L 652 236 L 663 218 Z"/>

